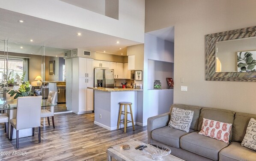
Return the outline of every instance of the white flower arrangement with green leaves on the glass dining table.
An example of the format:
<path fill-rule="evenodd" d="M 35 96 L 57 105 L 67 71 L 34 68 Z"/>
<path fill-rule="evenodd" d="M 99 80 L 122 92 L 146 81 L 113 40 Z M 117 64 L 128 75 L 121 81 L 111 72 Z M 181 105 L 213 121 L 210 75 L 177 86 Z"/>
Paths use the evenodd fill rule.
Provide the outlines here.
<path fill-rule="evenodd" d="M 14 96 L 14 99 L 18 97 L 26 97 L 26 96 L 33 96 L 33 92 L 30 89 L 30 82 L 24 82 L 25 72 L 23 73 L 22 77 L 17 74 L 16 80 L 17 82 L 13 86 L 13 89 L 6 89 L 6 92 L 10 94 L 10 96 Z"/>

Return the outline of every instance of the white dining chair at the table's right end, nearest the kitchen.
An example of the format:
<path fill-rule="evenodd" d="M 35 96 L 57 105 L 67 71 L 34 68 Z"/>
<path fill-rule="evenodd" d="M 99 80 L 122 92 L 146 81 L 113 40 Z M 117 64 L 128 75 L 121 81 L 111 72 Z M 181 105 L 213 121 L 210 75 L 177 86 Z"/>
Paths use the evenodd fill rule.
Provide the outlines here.
<path fill-rule="evenodd" d="M 55 100 L 56 100 L 56 97 L 57 97 L 57 92 L 56 91 L 49 91 L 47 102 L 50 102 L 50 103 L 54 104 Z M 53 126 L 55 128 L 55 125 L 54 125 L 54 106 L 51 106 L 50 111 L 48 109 L 42 109 L 41 110 L 41 117 L 47 117 L 49 126 L 50 126 L 49 117 L 51 117 Z"/>

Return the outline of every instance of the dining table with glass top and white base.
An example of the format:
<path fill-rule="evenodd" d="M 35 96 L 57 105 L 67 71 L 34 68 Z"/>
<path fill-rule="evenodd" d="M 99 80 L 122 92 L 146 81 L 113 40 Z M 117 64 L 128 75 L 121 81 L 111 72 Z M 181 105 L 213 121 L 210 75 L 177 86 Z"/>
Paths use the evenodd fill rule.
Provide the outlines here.
<path fill-rule="evenodd" d="M 18 102 L 18 99 L 5 100 L 3 97 L 0 97 L 0 111 L 5 111 L 8 114 L 9 121 L 13 118 L 16 118 L 17 102 Z M 43 109 L 45 109 L 48 106 L 55 106 L 55 104 L 51 102 L 47 102 L 46 100 L 41 100 L 41 107 Z M 9 130 L 8 138 L 10 138 L 10 124 L 9 124 L 8 130 Z M 27 136 L 32 136 L 32 128 L 19 130 L 19 138 L 24 138 Z M 13 129 L 12 138 L 16 139 L 15 129 Z"/>

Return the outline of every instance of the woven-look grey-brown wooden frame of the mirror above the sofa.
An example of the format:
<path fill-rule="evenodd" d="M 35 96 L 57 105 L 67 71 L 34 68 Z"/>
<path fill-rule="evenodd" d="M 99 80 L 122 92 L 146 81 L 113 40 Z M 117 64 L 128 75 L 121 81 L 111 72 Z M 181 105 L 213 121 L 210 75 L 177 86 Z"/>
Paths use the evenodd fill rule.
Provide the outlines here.
<path fill-rule="evenodd" d="M 256 82 L 256 72 L 215 72 L 216 42 L 254 36 L 256 26 L 205 35 L 205 80 Z"/>

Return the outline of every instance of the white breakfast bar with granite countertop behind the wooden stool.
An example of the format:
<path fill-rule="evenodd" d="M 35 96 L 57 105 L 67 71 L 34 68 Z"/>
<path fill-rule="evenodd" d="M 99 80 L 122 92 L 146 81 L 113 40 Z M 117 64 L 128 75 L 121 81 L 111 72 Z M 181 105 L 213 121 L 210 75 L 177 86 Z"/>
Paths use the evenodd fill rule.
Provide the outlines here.
<path fill-rule="evenodd" d="M 94 90 L 94 123 L 96 125 L 108 130 L 115 130 L 117 128 L 119 102 L 132 102 L 134 124 L 136 124 L 137 111 L 140 113 L 143 108 L 142 89 L 101 87 L 88 87 L 88 89 Z M 128 115 L 128 120 L 131 120 L 130 115 Z M 128 123 L 128 126 L 131 126 L 131 123 Z M 122 127 L 124 125 L 120 124 L 119 128 Z"/>

